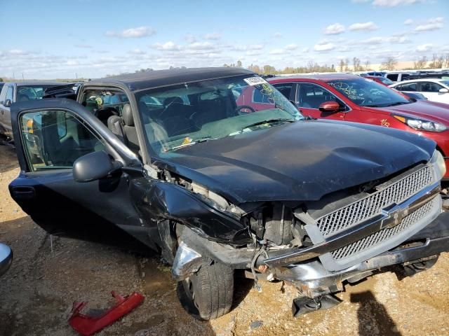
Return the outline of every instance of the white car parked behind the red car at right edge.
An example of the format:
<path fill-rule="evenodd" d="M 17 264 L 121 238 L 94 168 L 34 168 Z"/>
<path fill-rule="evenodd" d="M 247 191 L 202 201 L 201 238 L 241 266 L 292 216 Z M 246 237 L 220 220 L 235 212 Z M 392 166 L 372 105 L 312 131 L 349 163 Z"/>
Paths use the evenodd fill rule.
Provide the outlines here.
<path fill-rule="evenodd" d="M 420 93 L 431 102 L 449 104 L 449 79 L 422 78 L 390 85 L 405 94 Z M 449 106 L 448 106 L 449 107 Z"/>

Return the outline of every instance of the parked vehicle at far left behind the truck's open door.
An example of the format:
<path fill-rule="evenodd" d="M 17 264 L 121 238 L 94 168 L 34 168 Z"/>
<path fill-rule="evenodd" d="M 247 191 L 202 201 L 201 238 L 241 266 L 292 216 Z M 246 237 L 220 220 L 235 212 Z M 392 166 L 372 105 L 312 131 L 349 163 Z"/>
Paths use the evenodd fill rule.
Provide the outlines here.
<path fill-rule="evenodd" d="M 0 92 L 0 133 L 13 138 L 11 128 L 11 104 L 42 99 L 47 87 L 61 85 L 60 82 L 7 82 Z"/>

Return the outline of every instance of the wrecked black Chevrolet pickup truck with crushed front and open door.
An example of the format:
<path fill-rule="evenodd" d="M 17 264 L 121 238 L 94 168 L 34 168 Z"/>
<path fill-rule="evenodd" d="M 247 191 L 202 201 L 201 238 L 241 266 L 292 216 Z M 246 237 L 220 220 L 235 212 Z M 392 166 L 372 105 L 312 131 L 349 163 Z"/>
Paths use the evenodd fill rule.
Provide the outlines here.
<path fill-rule="evenodd" d="M 434 141 L 308 120 L 245 69 L 92 80 L 76 102 L 12 113 L 20 207 L 53 235 L 160 252 L 197 318 L 231 309 L 236 269 L 256 288 L 293 284 L 297 315 L 338 303 L 345 281 L 413 274 L 449 250 Z"/>

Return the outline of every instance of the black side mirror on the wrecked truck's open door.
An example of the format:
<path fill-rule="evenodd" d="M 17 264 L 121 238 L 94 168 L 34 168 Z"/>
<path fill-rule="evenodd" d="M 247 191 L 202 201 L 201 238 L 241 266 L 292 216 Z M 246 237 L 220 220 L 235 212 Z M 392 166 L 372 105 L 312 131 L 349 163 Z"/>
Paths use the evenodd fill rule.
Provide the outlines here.
<path fill-rule="evenodd" d="M 73 178 L 76 182 L 91 182 L 102 179 L 121 167 L 121 163 L 112 161 L 105 151 L 93 152 L 74 162 Z"/>

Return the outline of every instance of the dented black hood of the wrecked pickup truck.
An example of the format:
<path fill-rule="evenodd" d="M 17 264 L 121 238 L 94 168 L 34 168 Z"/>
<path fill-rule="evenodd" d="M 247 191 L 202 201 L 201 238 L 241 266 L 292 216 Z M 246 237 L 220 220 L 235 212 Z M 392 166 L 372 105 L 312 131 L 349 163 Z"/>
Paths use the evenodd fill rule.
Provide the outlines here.
<path fill-rule="evenodd" d="M 180 148 L 154 165 L 234 204 L 319 200 L 427 162 L 435 143 L 366 124 L 308 120 Z"/>

